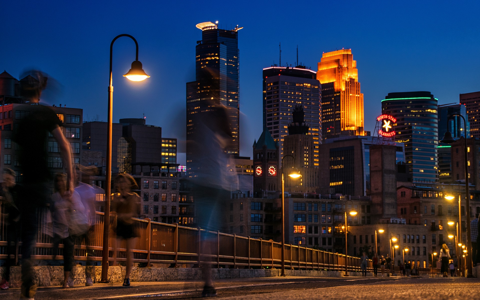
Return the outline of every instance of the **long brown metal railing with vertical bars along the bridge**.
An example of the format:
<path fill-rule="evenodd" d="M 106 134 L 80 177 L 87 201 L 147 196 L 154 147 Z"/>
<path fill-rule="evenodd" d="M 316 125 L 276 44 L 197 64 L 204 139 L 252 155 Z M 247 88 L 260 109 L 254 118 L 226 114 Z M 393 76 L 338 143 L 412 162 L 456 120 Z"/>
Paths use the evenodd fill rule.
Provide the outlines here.
<path fill-rule="evenodd" d="M 0 210 L 2 207 L 0 207 Z M 85 240 L 75 242 L 75 260 L 85 261 L 87 250 L 93 253 L 94 261 L 102 259 L 103 213 L 96 213 L 96 225 L 88 233 L 88 245 Z M 113 218 L 112 218 L 113 219 Z M 281 264 L 281 243 L 272 240 L 259 240 L 249 237 L 206 231 L 201 228 L 189 228 L 153 222 L 149 219 L 134 219 L 134 228 L 139 238 L 132 245 L 133 261 L 136 263 L 161 263 L 171 266 L 183 264 L 198 265 L 209 263 L 215 266 L 240 268 L 279 268 Z M 34 259 L 61 259 L 53 255 L 52 238 L 48 235 L 46 209 L 39 212 L 39 230 L 36 240 Z M 0 259 L 6 259 L 6 234 L 9 228 L 1 220 L 0 214 Z M 112 235 L 113 236 L 113 235 Z M 110 240 L 114 245 L 115 239 Z M 202 243 L 206 243 L 202 245 Z M 21 242 L 18 247 L 21 247 Z M 60 249 L 62 245 L 60 245 Z M 118 261 L 125 261 L 125 245 L 118 245 Z M 203 253 L 199 255 L 199 250 Z M 113 248 L 109 257 L 113 258 Z M 60 250 L 61 251 L 61 250 Z M 16 253 L 20 253 L 17 249 Z M 16 254 L 18 255 L 18 254 Z M 17 258 L 21 255 L 18 255 Z M 360 258 L 344 254 L 325 252 L 300 245 L 285 245 L 285 266 L 295 269 L 320 269 L 360 271 Z M 372 261 L 367 269 L 372 271 Z"/>

